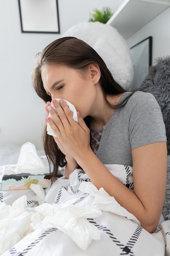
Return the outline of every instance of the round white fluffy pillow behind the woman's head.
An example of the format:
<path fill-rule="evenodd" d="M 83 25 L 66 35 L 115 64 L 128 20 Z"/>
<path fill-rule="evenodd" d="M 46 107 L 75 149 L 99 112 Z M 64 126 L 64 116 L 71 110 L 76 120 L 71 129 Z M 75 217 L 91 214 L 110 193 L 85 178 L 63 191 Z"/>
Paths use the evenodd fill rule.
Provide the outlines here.
<path fill-rule="evenodd" d="M 100 22 L 82 22 L 68 29 L 62 37 L 73 36 L 88 43 L 103 58 L 114 79 L 130 90 L 133 63 L 126 40 L 114 27 Z"/>

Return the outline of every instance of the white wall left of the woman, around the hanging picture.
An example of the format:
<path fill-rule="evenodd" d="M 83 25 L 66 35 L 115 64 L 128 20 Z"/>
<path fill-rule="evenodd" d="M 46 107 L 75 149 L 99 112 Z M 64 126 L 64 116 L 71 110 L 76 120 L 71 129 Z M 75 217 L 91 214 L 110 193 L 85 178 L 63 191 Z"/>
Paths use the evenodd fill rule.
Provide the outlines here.
<path fill-rule="evenodd" d="M 115 11 L 124 0 L 58 0 L 61 34 L 21 33 L 18 0 L 0 0 L 0 145 L 27 141 L 42 148 L 44 103 L 31 87 L 35 54 L 94 8 Z"/>

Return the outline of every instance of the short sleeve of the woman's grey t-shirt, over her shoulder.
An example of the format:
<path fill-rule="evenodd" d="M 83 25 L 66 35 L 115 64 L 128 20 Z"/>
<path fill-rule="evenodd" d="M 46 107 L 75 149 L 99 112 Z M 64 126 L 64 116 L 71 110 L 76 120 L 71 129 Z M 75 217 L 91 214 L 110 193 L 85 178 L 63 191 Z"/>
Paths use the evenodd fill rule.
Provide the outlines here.
<path fill-rule="evenodd" d="M 159 104 L 148 92 L 135 92 L 127 103 L 126 122 L 131 148 L 167 141 Z"/>

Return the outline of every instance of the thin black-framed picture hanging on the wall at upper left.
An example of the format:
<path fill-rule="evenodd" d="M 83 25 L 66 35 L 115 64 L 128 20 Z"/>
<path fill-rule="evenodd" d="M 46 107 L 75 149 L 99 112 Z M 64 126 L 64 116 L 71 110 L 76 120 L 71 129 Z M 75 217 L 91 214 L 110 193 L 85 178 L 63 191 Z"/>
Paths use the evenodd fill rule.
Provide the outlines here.
<path fill-rule="evenodd" d="M 60 34 L 57 0 L 18 0 L 22 33 Z"/>

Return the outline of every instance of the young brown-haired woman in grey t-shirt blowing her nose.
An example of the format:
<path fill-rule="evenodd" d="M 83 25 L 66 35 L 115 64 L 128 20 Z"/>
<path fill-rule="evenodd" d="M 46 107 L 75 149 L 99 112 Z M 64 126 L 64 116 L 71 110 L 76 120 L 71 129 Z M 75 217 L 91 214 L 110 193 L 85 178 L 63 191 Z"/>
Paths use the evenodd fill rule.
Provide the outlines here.
<path fill-rule="evenodd" d="M 46 103 L 47 117 L 57 137 L 44 131 L 44 149 L 53 166 L 66 166 L 69 178 L 77 166 L 97 189 L 103 187 L 149 232 L 155 231 L 166 190 L 166 130 L 155 98 L 126 92 L 102 58 L 73 37 L 49 44 L 33 71 L 33 86 Z M 65 99 L 78 116 L 73 120 Z M 57 109 L 56 115 L 51 100 Z M 133 167 L 133 190 L 124 186 L 104 164 Z"/>

